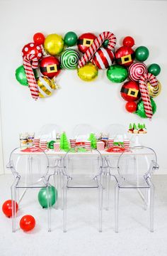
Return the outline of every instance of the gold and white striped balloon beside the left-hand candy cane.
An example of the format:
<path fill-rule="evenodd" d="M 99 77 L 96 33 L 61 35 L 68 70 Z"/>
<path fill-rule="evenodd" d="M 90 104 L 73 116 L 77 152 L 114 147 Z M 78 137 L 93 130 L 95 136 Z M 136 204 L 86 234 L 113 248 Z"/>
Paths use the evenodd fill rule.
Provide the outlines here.
<path fill-rule="evenodd" d="M 40 91 L 39 96 L 42 98 L 52 95 L 52 92 L 57 89 L 57 85 L 55 84 L 54 80 L 45 76 L 38 78 L 37 84 L 38 90 Z"/>

